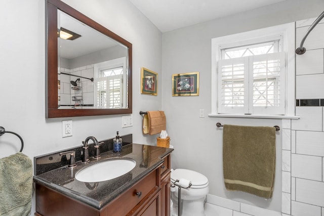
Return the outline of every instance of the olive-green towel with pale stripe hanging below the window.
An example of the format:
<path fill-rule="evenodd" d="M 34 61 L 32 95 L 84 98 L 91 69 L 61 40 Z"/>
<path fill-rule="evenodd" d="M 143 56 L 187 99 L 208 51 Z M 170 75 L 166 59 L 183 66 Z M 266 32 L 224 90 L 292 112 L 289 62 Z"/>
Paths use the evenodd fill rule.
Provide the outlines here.
<path fill-rule="evenodd" d="M 275 128 L 224 125 L 223 172 L 227 190 L 271 198 Z"/>

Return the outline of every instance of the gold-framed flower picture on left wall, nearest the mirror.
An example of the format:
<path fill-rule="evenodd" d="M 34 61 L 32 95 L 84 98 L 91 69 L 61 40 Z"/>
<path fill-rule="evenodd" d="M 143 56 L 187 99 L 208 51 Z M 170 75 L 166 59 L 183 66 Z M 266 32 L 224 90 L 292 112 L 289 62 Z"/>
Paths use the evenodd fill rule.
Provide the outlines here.
<path fill-rule="evenodd" d="M 157 95 L 157 73 L 142 67 L 141 94 Z"/>

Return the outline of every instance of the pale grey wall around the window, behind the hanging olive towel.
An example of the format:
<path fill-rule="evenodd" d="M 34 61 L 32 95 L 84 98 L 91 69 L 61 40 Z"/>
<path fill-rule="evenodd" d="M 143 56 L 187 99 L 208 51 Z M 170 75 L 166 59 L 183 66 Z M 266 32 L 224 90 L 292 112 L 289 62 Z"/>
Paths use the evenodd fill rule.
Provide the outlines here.
<path fill-rule="evenodd" d="M 281 162 L 276 166 L 275 191 L 271 200 L 228 192 L 224 188 L 222 131 L 216 128 L 216 122 L 281 127 L 281 120 L 207 116 L 211 113 L 211 39 L 317 17 L 323 8 L 322 1 L 288 0 L 163 34 L 163 109 L 169 119 L 167 130 L 171 144 L 175 147 L 174 167 L 189 168 L 206 175 L 210 181 L 210 194 L 281 212 Z M 199 96 L 172 97 L 172 74 L 195 71 L 200 72 Z M 199 118 L 199 109 L 205 109 L 205 118 Z M 281 137 L 282 131 L 277 135 L 279 161 Z"/>

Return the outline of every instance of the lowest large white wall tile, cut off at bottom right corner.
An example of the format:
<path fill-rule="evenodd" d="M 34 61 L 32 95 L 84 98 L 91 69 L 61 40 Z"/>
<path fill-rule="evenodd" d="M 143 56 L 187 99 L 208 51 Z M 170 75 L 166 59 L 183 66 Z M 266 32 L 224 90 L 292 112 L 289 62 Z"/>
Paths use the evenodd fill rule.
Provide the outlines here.
<path fill-rule="evenodd" d="M 294 216 L 321 216 L 321 207 L 292 201 L 292 215 Z"/>

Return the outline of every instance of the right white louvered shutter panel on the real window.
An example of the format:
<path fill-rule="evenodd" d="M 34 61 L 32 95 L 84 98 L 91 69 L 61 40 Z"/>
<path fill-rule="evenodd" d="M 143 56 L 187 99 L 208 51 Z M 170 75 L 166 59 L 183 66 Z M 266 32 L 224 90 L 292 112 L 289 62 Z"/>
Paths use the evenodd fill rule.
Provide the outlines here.
<path fill-rule="evenodd" d="M 250 113 L 285 114 L 285 56 L 281 52 L 249 57 Z"/>

